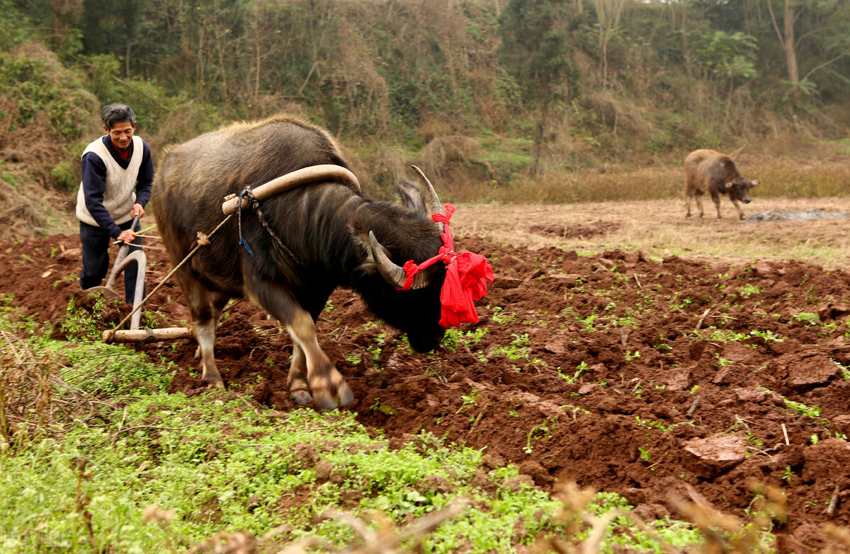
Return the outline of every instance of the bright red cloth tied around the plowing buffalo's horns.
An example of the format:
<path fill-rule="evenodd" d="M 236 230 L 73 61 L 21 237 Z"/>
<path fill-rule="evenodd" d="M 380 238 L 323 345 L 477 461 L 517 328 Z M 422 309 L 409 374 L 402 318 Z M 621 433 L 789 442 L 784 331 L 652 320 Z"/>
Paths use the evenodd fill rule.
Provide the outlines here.
<path fill-rule="evenodd" d="M 439 293 L 442 312 L 439 325 L 446 328 L 459 327 L 462 323 L 478 323 L 478 312 L 475 311 L 475 301 L 487 294 L 487 283 L 493 282 L 493 269 L 484 256 L 473 252 L 455 252 L 455 242 L 451 238 L 449 219 L 455 212 L 455 206 L 445 205 L 445 216 L 435 213 L 433 221 L 443 223 L 443 246 L 439 247 L 437 255 L 430 257 L 418 265 L 413 260 L 405 263 L 407 275 L 401 291 L 407 291 L 413 284 L 413 276 L 434 263 L 445 263 L 445 281 Z"/>

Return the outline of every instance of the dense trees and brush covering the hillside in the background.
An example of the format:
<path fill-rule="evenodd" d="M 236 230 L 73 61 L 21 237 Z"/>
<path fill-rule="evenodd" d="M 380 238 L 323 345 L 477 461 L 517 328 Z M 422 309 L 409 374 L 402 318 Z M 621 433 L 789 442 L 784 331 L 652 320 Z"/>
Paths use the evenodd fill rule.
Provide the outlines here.
<path fill-rule="evenodd" d="M 460 172 L 502 184 L 647 156 L 678 161 L 686 150 L 734 150 L 783 133 L 835 138 L 850 119 L 842 0 L 0 0 L 0 8 L 0 46 L 13 53 L 0 71 L 0 116 L 15 124 L 39 100 L 18 87 L 31 80 L 8 68 L 28 63 L 16 47 L 40 37 L 99 103 L 136 107 L 155 147 L 290 110 L 358 150 L 366 181 L 379 185 L 411 159 L 450 180 Z M 88 124 L 68 102 L 71 127 Z M 50 121 L 62 139 L 82 133 Z"/>

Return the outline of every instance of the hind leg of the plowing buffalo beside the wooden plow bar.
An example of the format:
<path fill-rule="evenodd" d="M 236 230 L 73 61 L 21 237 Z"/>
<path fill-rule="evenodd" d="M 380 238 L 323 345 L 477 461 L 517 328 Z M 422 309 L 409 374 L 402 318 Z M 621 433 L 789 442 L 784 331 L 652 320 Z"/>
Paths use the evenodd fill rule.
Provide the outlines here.
<path fill-rule="evenodd" d="M 213 387 L 224 388 L 224 380 L 215 363 L 215 326 L 229 298 L 220 292 L 210 291 L 185 272 L 178 272 L 177 276 L 189 305 L 192 332 L 201 353 L 201 379 Z"/>

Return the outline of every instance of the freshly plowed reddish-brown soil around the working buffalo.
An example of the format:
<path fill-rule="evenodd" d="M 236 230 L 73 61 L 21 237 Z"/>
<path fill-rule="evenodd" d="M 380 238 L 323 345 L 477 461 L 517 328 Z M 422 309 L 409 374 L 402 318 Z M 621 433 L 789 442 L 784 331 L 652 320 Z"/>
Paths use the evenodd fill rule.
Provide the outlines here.
<path fill-rule="evenodd" d="M 527 232 L 587 238 L 615 228 L 530 221 Z M 478 302 L 479 324 L 441 351 L 411 353 L 351 291 L 336 291 L 322 314 L 320 342 L 363 424 L 485 449 L 544 489 L 573 480 L 615 491 L 649 518 L 671 513 L 671 493 L 743 518 L 751 483 L 774 485 L 787 498 L 779 551 L 822 547 L 824 523 L 850 523 L 846 271 L 456 241 L 488 257 L 496 281 Z M 0 291 L 59 324 L 69 299 L 81 302 L 78 247 L 76 235 L 0 241 Z M 164 252 L 148 256 L 150 290 L 170 267 Z M 189 319 L 176 282 L 147 309 L 163 326 Z M 178 365 L 173 390 L 205 390 L 191 369 L 194 343 L 138 348 Z M 229 387 L 278 410 L 297 409 L 286 391 L 291 353 L 286 332 L 247 302 L 219 327 Z"/>

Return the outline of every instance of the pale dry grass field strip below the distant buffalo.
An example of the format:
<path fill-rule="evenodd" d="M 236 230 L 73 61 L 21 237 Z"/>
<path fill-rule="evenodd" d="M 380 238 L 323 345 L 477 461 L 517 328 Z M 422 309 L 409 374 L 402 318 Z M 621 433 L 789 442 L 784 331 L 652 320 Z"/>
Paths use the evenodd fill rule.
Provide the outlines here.
<path fill-rule="evenodd" d="M 682 198 L 538 206 L 462 204 L 454 222 L 464 233 L 532 250 L 545 246 L 580 252 L 628 248 L 642 250 L 649 257 L 675 254 L 716 263 L 797 259 L 825 269 L 850 267 L 850 218 L 751 223 L 740 221 L 732 203 L 721 198 L 723 219 L 717 221 L 711 199 L 706 198 L 703 205 L 706 217 L 700 221 L 696 215 L 684 218 Z M 745 215 L 820 209 L 850 216 L 850 196 L 763 198 L 754 189 L 753 201 L 742 206 Z M 532 232 L 532 226 L 549 229 Z"/>

